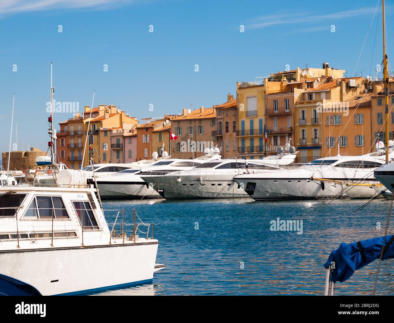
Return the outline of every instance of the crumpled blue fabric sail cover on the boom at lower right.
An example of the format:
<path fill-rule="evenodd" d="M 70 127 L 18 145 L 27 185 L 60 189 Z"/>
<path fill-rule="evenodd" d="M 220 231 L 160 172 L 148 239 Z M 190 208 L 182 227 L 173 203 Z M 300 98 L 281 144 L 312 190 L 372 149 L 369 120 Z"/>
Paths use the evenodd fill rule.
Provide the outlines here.
<path fill-rule="evenodd" d="M 382 245 L 385 243 L 382 260 L 394 258 L 394 235 L 378 237 L 359 242 L 353 242 L 349 245 L 342 242 L 338 249 L 333 250 L 324 264 L 325 268 L 335 262 L 335 269 L 331 273 L 332 282 L 344 282 L 357 269 L 360 269 L 375 259 L 379 259 Z"/>

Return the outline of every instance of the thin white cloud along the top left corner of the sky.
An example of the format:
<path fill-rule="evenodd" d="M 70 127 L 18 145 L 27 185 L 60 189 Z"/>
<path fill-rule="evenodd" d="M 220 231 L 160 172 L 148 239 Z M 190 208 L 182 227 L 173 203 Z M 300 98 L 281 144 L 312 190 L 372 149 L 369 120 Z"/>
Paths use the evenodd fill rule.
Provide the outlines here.
<path fill-rule="evenodd" d="M 0 14 L 55 9 L 107 8 L 136 2 L 140 3 L 143 0 L 2 0 Z"/>

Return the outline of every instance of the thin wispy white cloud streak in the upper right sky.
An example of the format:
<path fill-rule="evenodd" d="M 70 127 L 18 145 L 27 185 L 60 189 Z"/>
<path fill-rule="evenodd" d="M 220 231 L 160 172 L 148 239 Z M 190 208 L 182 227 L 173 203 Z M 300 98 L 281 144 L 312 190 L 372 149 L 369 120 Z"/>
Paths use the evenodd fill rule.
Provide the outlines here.
<path fill-rule="evenodd" d="M 258 17 L 253 19 L 253 23 L 247 25 L 248 29 L 258 29 L 264 28 L 273 25 L 281 25 L 281 24 L 297 24 L 297 23 L 308 23 L 308 22 L 316 22 L 316 21 L 327 21 L 335 19 L 344 19 L 357 17 L 361 15 L 368 15 L 374 13 L 374 7 L 364 7 L 355 10 L 348 11 L 339 11 L 335 13 L 327 13 L 323 15 L 314 15 L 313 13 L 297 13 L 296 15 L 289 14 L 276 14 L 276 15 L 268 15 L 263 17 Z"/>

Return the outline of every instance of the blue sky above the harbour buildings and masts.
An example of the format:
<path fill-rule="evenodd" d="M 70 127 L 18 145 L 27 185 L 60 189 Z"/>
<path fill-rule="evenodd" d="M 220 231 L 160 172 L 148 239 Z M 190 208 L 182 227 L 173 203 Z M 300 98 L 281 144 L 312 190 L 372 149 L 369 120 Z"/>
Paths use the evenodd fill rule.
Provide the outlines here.
<path fill-rule="evenodd" d="M 390 60 L 394 1 L 386 3 Z M 306 63 L 321 67 L 327 61 L 346 69 L 348 77 L 354 70 L 374 75 L 382 60 L 379 7 L 370 27 L 377 4 L 378 0 L 2 0 L 0 150 L 8 150 L 13 93 L 12 142 L 17 123 L 19 150 L 22 143 L 25 149 L 28 143 L 47 148 L 50 62 L 56 101 L 79 102 L 82 111 L 91 105 L 95 90 L 94 106 L 117 105 L 138 119 L 179 113 L 192 103 L 193 108 L 221 104 L 227 93 L 235 95 L 237 81 L 283 71 L 286 64 L 295 69 Z M 63 32 L 58 32 L 58 25 Z M 240 25 L 245 32 L 240 32 Z M 56 124 L 71 117 L 54 114 Z"/>

